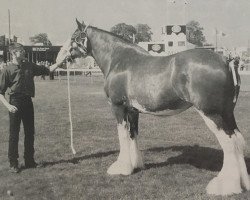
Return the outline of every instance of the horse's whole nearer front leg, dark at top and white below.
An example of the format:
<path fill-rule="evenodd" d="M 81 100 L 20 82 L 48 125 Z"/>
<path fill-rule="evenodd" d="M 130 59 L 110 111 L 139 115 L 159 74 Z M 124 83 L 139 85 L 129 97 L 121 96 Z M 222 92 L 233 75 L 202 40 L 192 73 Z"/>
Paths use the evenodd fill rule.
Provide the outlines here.
<path fill-rule="evenodd" d="M 112 111 L 117 120 L 117 130 L 120 144 L 120 153 L 115 161 L 108 169 L 108 174 L 129 175 L 133 172 L 130 157 L 130 134 L 128 124 L 128 111 L 124 106 L 112 105 Z"/>

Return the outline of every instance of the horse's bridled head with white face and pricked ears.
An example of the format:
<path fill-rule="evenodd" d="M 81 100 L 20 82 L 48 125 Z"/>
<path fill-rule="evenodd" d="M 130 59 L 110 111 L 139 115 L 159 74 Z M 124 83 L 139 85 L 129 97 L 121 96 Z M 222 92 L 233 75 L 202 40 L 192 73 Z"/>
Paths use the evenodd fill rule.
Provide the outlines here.
<path fill-rule="evenodd" d="M 88 26 L 76 19 L 77 29 L 61 48 L 57 56 L 57 63 L 75 58 L 87 57 L 90 54 L 90 43 L 87 38 Z"/>

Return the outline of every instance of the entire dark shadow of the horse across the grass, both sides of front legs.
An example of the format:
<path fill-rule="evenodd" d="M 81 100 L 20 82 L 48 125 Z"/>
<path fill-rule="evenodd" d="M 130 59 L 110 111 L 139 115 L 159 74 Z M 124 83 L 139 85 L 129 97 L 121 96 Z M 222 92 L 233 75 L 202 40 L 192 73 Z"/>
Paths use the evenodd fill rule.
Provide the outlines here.
<path fill-rule="evenodd" d="M 159 163 L 146 163 L 145 170 L 151 168 L 160 168 L 174 164 L 189 164 L 199 169 L 206 169 L 209 171 L 220 171 L 223 162 L 222 150 L 213 149 L 209 147 L 194 146 L 171 146 L 171 147 L 157 147 L 144 150 L 145 152 L 181 152 L 180 155 L 171 157 L 167 161 Z M 107 157 L 117 154 L 119 151 L 98 152 L 94 154 L 78 156 L 71 159 L 62 159 L 52 162 L 42 162 L 41 167 L 53 166 L 61 163 L 78 164 L 82 160 Z M 245 158 L 247 171 L 250 173 L 250 158 Z M 136 170 L 138 172 L 140 170 Z"/>

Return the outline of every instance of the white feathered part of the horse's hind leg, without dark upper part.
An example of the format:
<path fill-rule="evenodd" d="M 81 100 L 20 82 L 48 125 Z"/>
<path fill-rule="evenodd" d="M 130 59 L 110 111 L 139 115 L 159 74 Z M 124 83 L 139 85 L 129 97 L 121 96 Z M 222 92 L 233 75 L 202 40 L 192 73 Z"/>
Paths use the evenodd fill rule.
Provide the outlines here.
<path fill-rule="evenodd" d="M 209 129 L 217 137 L 224 153 L 223 167 L 218 176 L 212 179 L 207 186 L 207 193 L 214 195 L 231 195 L 242 192 L 241 183 L 248 185 L 246 165 L 243 158 L 244 139 L 241 134 L 227 135 L 201 111 L 198 111 Z"/>

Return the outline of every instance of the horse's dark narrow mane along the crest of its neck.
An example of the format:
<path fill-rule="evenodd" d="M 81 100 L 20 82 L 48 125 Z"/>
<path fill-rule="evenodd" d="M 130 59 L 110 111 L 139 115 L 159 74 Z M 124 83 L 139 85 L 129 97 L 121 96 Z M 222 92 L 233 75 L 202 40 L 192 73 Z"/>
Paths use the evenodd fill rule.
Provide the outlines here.
<path fill-rule="evenodd" d="M 92 29 L 96 30 L 96 31 L 100 31 L 100 32 L 104 32 L 112 37 L 115 37 L 117 40 L 119 40 L 119 42 L 125 44 L 126 46 L 129 46 L 130 48 L 136 48 L 139 52 L 141 53 L 146 53 L 146 54 L 149 54 L 148 51 L 146 51 L 145 49 L 143 49 L 142 47 L 138 46 L 137 44 L 134 44 L 132 43 L 131 41 L 123 38 L 122 36 L 120 35 L 117 35 L 115 33 L 112 33 L 112 32 L 109 32 L 109 31 L 106 31 L 106 30 L 103 30 L 103 29 L 100 29 L 100 28 L 97 28 L 97 27 L 93 27 L 91 26 Z M 150 54 L 149 54 L 150 55 Z"/>

